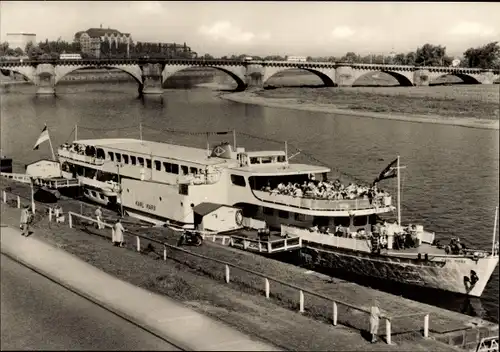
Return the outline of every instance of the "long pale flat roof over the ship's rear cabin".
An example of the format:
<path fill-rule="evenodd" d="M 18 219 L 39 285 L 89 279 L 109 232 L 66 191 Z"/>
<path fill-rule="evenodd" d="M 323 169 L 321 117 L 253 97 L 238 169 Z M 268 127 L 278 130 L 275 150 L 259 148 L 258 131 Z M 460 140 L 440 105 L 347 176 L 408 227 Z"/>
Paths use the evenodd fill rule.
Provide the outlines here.
<path fill-rule="evenodd" d="M 113 148 L 115 150 L 129 152 L 131 154 L 137 153 L 183 160 L 203 165 L 218 165 L 231 162 L 231 160 L 217 157 L 208 158 L 206 149 L 185 147 L 170 143 L 141 141 L 140 139 L 132 138 L 84 139 L 77 140 L 75 143 L 93 145 L 96 147 Z"/>

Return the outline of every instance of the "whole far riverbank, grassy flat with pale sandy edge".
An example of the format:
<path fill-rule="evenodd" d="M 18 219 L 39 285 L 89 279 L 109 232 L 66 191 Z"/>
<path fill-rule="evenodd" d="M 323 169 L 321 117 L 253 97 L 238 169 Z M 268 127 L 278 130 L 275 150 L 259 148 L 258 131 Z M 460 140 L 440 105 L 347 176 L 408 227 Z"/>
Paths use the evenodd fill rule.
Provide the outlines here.
<path fill-rule="evenodd" d="M 498 92 L 498 86 L 493 86 L 493 88 Z M 486 89 L 485 95 L 491 93 L 488 92 L 488 88 Z M 499 129 L 498 98 L 495 105 L 491 97 L 484 101 L 484 99 L 475 98 L 470 100 L 462 99 L 463 97 L 450 99 L 448 97 L 433 98 L 429 96 L 386 94 L 387 92 L 382 91 L 380 93 L 363 92 L 359 89 L 346 92 L 346 90 L 335 88 L 280 88 L 223 94 L 220 97 L 238 103 L 274 108 L 471 128 Z M 339 101 L 340 99 L 342 101 Z M 373 100 L 373 105 L 371 105 L 371 100 Z M 415 105 L 420 105 L 420 109 L 415 108 Z M 467 115 L 464 115 L 464 113 L 467 113 Z"/>

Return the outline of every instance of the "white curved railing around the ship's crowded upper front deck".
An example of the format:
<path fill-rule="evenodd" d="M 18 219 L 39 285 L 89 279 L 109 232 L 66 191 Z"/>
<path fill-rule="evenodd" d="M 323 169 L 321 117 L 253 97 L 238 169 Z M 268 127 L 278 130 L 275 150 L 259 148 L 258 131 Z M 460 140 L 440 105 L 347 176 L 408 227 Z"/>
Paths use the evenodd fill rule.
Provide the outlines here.
<path fill-rule="evenodd" d="M 309 210 L 362 210 L 388 207 L 392 204 L 391 197 L 384 197 L 381 200 L 370 202 L 369 199 L 315 199 L 307 197 L 294 197 L 283 194 L 272 194 L 265 191 L 253 190 L 254 196 L 262 201 L 274 204 L 281 204 L 295 208 Z"/>

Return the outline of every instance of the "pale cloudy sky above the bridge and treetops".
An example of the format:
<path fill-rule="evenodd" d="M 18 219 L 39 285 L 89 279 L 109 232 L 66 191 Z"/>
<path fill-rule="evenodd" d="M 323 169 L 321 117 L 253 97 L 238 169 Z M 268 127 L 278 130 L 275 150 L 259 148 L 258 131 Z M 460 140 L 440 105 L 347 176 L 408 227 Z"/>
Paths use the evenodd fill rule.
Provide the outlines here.
<path fill-rule="evenodd" d="M 198 54 L 407 52 L 425 43 L 461 54 L 500 41 L 500 3 L 1 1 L 0 35 L 72 41 L 90 27 L 134 41 L 186 42 Z"/>

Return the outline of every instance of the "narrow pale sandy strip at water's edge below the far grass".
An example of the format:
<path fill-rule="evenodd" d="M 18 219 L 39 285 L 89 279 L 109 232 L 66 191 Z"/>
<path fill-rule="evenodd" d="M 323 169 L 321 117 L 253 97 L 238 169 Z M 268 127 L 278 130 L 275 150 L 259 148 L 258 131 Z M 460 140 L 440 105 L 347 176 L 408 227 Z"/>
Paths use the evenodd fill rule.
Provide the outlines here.
<path fill-rule="evenodd" d="M 359 111 L 342 109 L 334 104 L 321 104 L 316 102 L 304 102 L 295 98 L 267 98 L 261 97 L 254 92 L 238 92 L 223 94 L 222 99 L 243 103 L 254 104 L 273 108 L 294 109 L 330 114 L 352 115 L 359 117 L 370 117 L 389 120 L 400 120 L 419 123 L 434 123 L 443 125 L 463 126 L 482 129 L 499 129 L 498 120 L 487 120 L 473 117 L 447 117 L 439 115 L 410 115 L 402 113 L 378 113 L 371 111 Z"/>

